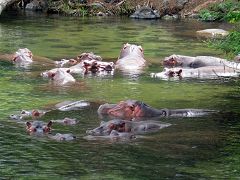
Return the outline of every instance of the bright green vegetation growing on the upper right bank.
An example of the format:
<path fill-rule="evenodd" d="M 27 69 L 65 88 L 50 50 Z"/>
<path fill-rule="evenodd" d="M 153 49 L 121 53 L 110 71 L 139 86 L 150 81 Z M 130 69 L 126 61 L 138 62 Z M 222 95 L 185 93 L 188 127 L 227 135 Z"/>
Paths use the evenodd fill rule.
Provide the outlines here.
<path fill-rule="evenodd" d="M 234 0 L 224 1 L 203 9 L 200 12 L 203 21 L 227 21 L 233 23 L 234 28 L 229 35 L 223 39 L 211 40 L 210 47 L 223 50 L 227 57 L 233 58 L 240 53 L 240 2 Z"/>

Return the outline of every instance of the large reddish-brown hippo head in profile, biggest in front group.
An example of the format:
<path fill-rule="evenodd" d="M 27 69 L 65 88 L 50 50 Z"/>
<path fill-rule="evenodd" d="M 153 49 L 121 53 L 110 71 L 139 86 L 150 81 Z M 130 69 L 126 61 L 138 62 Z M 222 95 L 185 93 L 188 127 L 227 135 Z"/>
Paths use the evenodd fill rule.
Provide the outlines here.
<path fill-rule="evenodd" d="M 153 117 L 159 115 L 157 109 L 137 100 L 121 101 L 118 104 L 103 104 L 98 108 L 98 113 L 99 115 L 109 115 L 122 119 Z"/>

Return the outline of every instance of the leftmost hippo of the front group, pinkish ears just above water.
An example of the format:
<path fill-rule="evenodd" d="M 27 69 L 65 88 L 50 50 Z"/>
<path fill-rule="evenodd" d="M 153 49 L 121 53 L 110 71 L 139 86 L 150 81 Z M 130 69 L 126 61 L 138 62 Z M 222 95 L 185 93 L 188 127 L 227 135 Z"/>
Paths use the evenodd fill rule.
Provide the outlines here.
<path fill-rule="evenodd" d="M 42 117 L 47 111 L 42 111 L 42 110 L 32 110 L 32 111 L 27 111 L 27 110 L 22 110 L 20 114 L 12 114 L 9 117 L 13 120 L 23 120 L 23 119 L 37 119 Z"/>

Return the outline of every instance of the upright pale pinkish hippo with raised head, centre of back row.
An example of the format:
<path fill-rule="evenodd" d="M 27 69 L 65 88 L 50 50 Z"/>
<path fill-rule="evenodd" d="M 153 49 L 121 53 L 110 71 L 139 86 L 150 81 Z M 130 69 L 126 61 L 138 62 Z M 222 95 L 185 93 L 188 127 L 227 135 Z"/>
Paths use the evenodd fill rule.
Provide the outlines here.
<path fill-rule="evenodd" d="M 124 73 L 139 74 L 145 66 L 143 48 L 134 44 L 124 44 L 116 62 L 116 69 Z"/>

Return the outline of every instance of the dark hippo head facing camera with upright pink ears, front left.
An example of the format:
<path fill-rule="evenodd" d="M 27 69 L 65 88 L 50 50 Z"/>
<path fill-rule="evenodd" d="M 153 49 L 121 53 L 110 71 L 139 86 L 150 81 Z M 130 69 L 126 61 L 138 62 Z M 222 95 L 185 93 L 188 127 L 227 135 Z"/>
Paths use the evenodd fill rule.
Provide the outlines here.
<path fill-rule="evenodd" d="M 26 122 L 27 132 L 30 134 L 47 134 L 51 131 L 52 121 L 47 124 L 42 121 Z"/>

